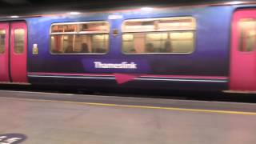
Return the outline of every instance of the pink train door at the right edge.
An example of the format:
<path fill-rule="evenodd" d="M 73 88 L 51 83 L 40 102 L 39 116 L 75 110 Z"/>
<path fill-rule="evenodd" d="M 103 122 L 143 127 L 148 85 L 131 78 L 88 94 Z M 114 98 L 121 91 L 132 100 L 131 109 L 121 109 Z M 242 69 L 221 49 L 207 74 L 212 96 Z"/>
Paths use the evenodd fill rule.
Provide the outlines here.
<path fill-rule="evenodd" d="M 234 12 L 230 90 L 256 90 L 256 10 Z"/>

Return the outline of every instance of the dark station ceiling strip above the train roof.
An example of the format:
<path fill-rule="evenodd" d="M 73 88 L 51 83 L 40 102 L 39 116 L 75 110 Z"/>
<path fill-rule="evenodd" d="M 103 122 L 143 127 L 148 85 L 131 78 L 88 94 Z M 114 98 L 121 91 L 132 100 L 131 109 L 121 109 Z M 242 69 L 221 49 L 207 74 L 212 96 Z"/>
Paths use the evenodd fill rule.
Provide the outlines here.
<path fill-rule="evenodd" d="M 122 9 L 129 6 L 180 6 L 227 0 L 0 0 L 0 16 L 49 14 L 57 11 Z M 241 1 L 239 1 L 241 2 Z"/>

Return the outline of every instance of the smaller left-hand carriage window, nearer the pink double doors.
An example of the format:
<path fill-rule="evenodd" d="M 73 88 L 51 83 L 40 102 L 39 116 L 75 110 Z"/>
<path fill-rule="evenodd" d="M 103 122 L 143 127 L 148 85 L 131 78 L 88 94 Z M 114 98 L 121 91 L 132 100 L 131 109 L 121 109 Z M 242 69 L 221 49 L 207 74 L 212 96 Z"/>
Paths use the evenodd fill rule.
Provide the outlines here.
<path fill-rule="evenodd" d="M 108 22 L 54 23 L 50 30 L 51 54 L 106 54 Z"/>

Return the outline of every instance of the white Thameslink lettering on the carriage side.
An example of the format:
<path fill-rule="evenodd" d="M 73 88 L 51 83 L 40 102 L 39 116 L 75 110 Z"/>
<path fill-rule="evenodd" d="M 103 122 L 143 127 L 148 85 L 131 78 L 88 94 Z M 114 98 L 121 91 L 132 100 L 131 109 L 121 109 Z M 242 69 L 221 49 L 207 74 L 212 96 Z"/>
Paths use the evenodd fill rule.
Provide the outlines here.
<path fill-rule="evenodd" d="M 134 62 L 121 62 L 121 63 L 102 63 L 94 62 L 96 69 L 137 69 L 137 64 Z"/>

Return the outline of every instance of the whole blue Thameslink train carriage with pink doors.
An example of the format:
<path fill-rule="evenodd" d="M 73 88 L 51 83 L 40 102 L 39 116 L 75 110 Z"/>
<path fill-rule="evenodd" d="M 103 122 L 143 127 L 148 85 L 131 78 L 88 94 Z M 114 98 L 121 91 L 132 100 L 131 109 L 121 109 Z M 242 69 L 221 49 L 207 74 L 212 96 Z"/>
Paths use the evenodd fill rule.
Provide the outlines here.
<path fill-rule="evenodd" d="M 0 83 L 256 91 L 256 3 L 0 22 Z"/>

